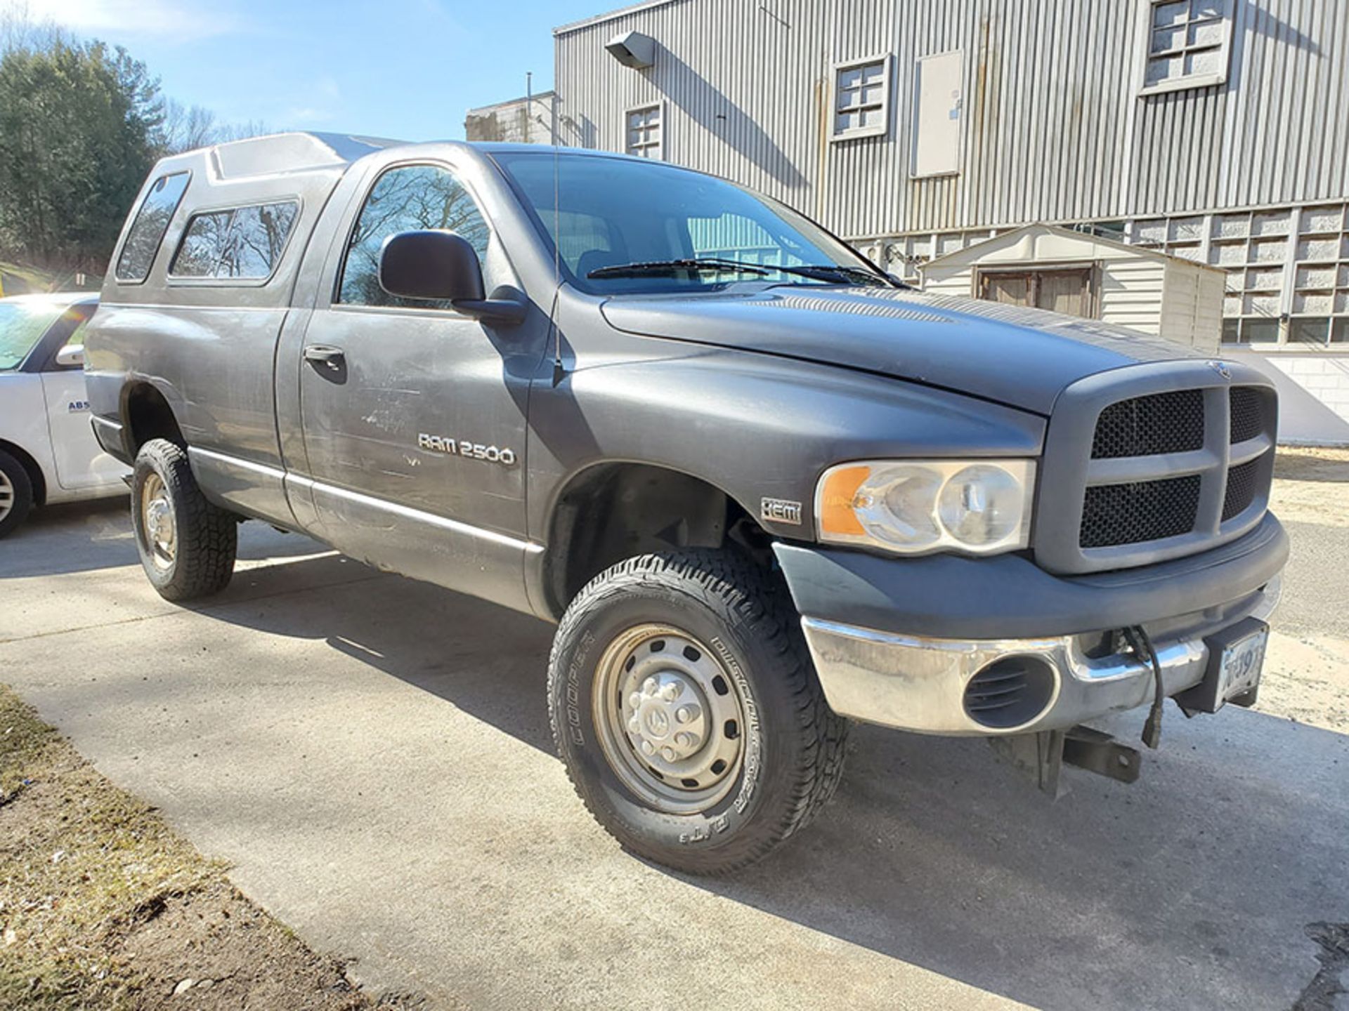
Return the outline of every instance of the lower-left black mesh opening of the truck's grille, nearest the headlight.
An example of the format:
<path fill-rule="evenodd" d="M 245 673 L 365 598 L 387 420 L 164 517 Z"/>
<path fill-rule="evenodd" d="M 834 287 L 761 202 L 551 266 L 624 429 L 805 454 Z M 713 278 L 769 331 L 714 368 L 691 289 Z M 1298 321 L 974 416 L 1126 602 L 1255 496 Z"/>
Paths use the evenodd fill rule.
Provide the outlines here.
<path fill-rule="evenodd" d="M 1082 503 L 1078 542 L 1082 547 L 1114 547 L 1188 534 L 1198 511 L 1198 474 L 1093 485 Z"/>

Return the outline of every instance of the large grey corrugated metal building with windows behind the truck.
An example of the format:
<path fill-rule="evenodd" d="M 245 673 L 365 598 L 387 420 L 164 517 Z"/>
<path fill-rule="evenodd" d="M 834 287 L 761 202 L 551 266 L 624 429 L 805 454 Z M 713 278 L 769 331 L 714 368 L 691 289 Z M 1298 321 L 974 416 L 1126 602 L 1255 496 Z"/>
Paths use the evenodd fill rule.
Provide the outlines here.
<path fill-rule="evenodd" d="M 646 0 L 553 35 L 560 143 L 749 183 L 911 278 L 1033 222 L 1221 267 L 1224 342 L 1349 439 L 1346 0 Z"/>

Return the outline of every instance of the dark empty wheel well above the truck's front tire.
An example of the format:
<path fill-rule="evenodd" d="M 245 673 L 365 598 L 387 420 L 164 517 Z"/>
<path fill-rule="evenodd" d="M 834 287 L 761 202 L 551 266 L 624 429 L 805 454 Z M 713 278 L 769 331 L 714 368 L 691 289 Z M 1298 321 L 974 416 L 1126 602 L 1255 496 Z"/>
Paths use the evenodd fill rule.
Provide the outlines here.
<path fill-rule="evenodd" d="M 735 543 L 772 563 L 769 535 L 726 492 L 680 470 L 606 464 L 583 470 L 553 510 L 544 586 L 561 616 L 595 576 L 633 555 Z"/>

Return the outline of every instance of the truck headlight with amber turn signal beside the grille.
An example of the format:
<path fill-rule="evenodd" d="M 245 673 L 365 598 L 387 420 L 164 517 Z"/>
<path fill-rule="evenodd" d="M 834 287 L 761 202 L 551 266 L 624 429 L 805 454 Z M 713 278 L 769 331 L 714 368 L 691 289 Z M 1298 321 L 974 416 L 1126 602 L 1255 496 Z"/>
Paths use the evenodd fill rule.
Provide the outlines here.
<path fill-rule="evenodd" d="M 900 554 L 1027 547 L 1033 460 L 866 460 L 831 466 L 815 491 L 820 541 Z"/>

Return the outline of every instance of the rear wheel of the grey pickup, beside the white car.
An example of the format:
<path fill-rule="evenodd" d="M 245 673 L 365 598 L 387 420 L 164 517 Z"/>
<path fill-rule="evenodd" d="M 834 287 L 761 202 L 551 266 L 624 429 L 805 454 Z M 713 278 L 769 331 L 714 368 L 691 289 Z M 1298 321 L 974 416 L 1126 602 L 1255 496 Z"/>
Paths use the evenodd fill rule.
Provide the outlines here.
<path fill-rule="evenodd" d="M 140 448 L 131 518 L 140 565 L 161 597 L 194 600 L 229 584 L 239 524 L 233 514 L 206 501 L 182 446 L 151 439 Z"/>

